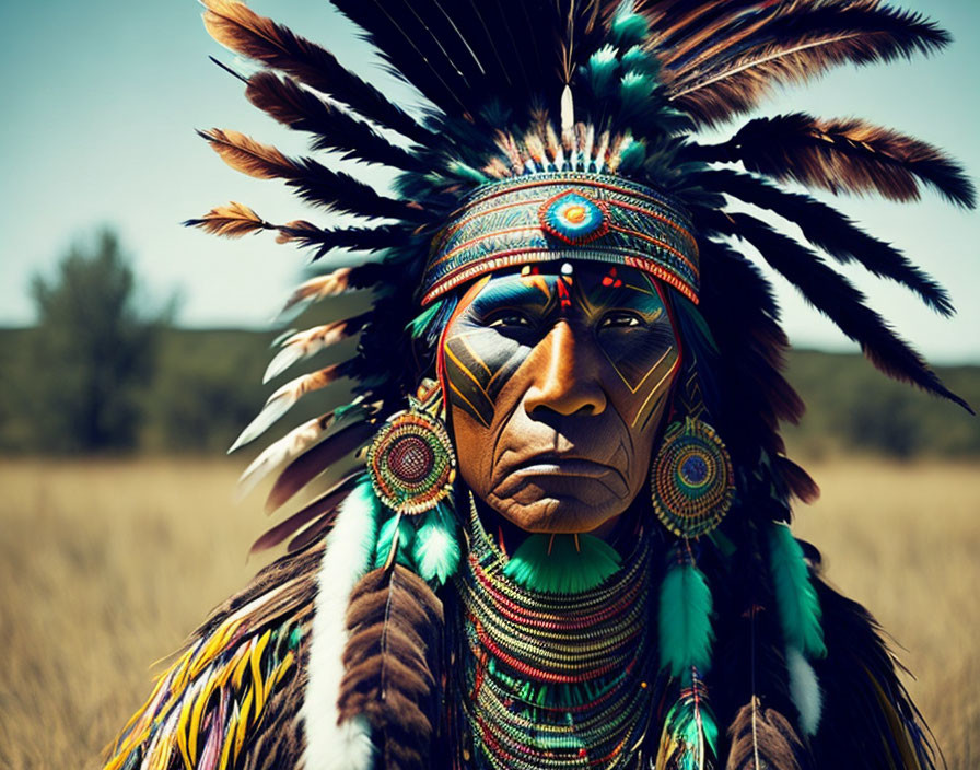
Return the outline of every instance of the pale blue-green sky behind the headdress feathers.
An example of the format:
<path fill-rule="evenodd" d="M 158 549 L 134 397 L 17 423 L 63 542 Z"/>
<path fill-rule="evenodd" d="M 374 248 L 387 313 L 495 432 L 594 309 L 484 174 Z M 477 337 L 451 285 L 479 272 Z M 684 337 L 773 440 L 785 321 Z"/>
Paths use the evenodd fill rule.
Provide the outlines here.
<path fill-rule="evenodd" d="M 250 4 L 323 43 L 382 88 L 406 95 L 325 0 Z M 941 22 L 953 32 L 953 46 L 912 63 L 838 69 L 781 93 L 759 114 L 805 109 L 865 117 L 945 148 L 976 178 L 980 3 L 900 4 Z M 121 233 L 148 302 L 179 292 L 179 322 L 186 326 L 262 327 L 300 278 L 305 257 L 266 234 L 225 241 L 179 225 L 229 200 L 272 221 L 328 221 L 294 201 L 279 183 L 231 171 L 194 133 L 195 128 L 235 128 L 291 152 L 303 150 L 302 137 L 254 109 L 242 84 L 208 61 L 214 55 L 235 63 L 207 35 L 200 12 L 192 0 L 0 5 L 0 325 L 30 324 L 31 276 L 49 273 L 71 243 L 91 237 L 101 224 Z M 372 174 L 366 177 L 384 184 Z M 945 320 L 910 293 L 848 270 L 873 304 L 931 360 L 980 362 L 980 214 L 946 206 L 931 192 L 912 206 L 855 198 L 836 205 L 945 283 L 959 313 Z M 792 288 L 777 283 L 795 345 L 853 348 Z"/>

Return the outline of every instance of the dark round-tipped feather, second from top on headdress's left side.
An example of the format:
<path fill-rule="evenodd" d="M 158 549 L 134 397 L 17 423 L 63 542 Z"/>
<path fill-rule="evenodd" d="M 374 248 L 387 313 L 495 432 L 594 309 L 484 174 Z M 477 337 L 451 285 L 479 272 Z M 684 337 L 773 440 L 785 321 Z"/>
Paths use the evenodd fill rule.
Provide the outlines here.
<path fill-rule="evenodd" d="M 401 171 L 429 171 L 411 152 L 392 144 L 369 124 L 301 88 L 291 78 L 257 72 L 248 79 L 245 95 L 279 122 L 316 135 L 311 144 L 314 150 L 339 150 L 345 160 L 380 163 Z"/>

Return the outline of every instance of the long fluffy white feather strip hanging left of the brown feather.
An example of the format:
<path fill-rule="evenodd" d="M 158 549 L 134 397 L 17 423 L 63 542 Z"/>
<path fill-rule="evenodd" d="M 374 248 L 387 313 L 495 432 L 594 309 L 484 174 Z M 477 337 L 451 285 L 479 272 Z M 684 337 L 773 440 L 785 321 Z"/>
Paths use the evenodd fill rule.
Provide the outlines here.
<path fill-rule="evenodd" d="M 377 520 L 355 490 L 343 501 L 317 574 L 310 679 L 303 700 L 305 770 L 370 770 L 371 730 L 355 718 L 338 725 L 337 698 L 343 677 L 341 655 L 349 632 L 347 605 L 354 584 L 372 563 Z"/>

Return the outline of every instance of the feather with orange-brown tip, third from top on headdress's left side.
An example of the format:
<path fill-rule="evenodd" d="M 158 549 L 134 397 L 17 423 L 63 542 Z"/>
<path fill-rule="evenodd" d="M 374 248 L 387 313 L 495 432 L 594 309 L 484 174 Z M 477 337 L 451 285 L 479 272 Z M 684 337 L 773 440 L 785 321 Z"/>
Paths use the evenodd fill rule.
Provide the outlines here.
<path fill-rule="evenodd" d="M 310 158 L 291 160 L 240 131 L 212 128 L 198 135 L 235 171 L 259 179 L 285 179 L 307 202 L 364 219 L 420 219 L 418 207 L 380 195 L 350 174 L 330 171 Z"/>

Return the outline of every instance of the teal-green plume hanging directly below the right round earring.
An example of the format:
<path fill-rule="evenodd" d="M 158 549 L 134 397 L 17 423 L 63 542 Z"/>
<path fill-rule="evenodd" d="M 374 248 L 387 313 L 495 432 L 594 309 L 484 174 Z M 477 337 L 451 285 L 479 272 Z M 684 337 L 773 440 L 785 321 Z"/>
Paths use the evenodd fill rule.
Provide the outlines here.
<path fill-rule="evenodd" d="M 711 588 L 695 564 L 676 557 L 661 583 L 661 668 L 680 676 L 691 666 L 711 667 Z"/>

